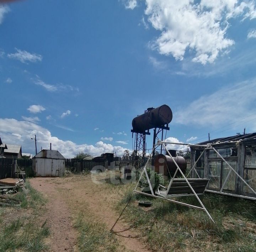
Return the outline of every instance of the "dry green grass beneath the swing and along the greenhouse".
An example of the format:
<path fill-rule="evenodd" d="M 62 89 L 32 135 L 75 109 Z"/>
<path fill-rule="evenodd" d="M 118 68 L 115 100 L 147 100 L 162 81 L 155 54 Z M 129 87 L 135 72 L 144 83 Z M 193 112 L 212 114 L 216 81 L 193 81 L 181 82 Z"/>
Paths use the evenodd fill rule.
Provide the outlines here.
<path fill-rule="evenodd" d="M 128 187 L 127 187 L 128 188 Z M 124 220 L 144 236 L 155 251 L 256 251 L 256 202 L 206 194 L 200 197 L 206 213 L 161 199 L 132 194 L 129 188 L 117 205 Z M 153 207 L 145 211 L 136 200 L 148 199 Z M 193 196 L 177 201 L 199 206 Z"/>

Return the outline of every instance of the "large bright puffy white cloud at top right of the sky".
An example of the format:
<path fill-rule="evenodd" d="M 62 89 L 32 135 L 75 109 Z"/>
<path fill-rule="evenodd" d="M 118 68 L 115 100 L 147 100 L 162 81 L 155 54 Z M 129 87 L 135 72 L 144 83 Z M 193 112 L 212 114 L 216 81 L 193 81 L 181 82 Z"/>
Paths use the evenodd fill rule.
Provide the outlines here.
<path fill-rule="evenodd" d="M 151 48 L 176 60 L 192 55 L 201 64 L 214 62 L 234 45 L 226 35 L 231 18 L 256 18 L 255 1 L 145 0 L 145 4 L 148 21 L 161 32 Z"/>

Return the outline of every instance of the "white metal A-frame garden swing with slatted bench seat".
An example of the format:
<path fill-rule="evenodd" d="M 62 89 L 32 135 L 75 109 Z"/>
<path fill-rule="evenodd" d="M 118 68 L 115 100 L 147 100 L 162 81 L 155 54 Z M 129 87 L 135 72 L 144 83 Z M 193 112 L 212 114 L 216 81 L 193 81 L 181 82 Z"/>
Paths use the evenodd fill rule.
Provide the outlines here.
<path fill-rule="evenodd" d="M 200 157 L 197 159 L 196 163 L 193 165 L 193 167 L 190 170 L 190 172 L 191 172 L 192 169 L 194 169 L 196 171 L 199 179 L 187 179 L 187 177 L 185 177 L 185 175 L 181 171 L 180 167 L 178 166 L 178 164 L 176 163 L 176 161 L 174 160 L 174 158 L 170 154 L 169 150 L 166 148 L 166 144 L 179 144 L 179 145 L 186 145 L 186 146 L 210 147 L 209 145 L 183 144 L 183 143 L 172 143 L 172 142 L 158 141 L 155 144 L 152 152 L 150 153 L 150 156 L 149 156 L 145 166 L 143 167 L 143 171 L 142 171 L 142 173 L 141 173 L 141 175 L 139 177 L 139 180 L 137 182 L 137 185 L 135 186 L 133 191 L 137 192 L 137 193 L 140 193 L 140 194 L 143 194 L 143 195 L 148 195 L 150 197 L 161 198 L 161 199 L 165 199 L 167 201 L 170 201 L 170 202 L 173 202 L 173 203 L 176 203 L 176 204 L 180 204 L 180 205 L 183 205 L 183 206 L 187 206 L 187 207 L 195 208 L 195 209 L 198 209 L 198 210 L 202 210 L 202 211 L 206 212 L 206 214 L 208 215 L 209 219 L 214 222 L 214 220 L 212 219 L 212 217 L 208 213 L 207 209 L 204 207 L 202 201 L 198 197 L 198 195 L 202 195 L 204 193 L 204 191 L 206 189 L 206 186 L 207 186 L 207 183 L 209 182 L 209 179 L 200 179 L 196 169 L 194 169 L 197 161 L 201 158 L 202 154 L 200 155 Z M 168 187 L 166 188 L 166 187 L 164 187 L 162 185 L 159 185 L 159 187 L 162 190 L 159 190 L 159 188 L 158 188 L 157 191 L 156 191 L 156 195 L 155 195 L 154 191 L 153 191 L 153 188 L 152 188 L 152 185 L 151 185 L 151 182 L 150 182 L 150 179 L 149 179 L 149 176 L 148 176 L 148 172 L 146 171 L 146 167 L 147 167 L 147 165 L 149 163 L 149 160 L 150 160 L 150 158 L 151 158 L 151 156 L 152 156 L 156 146 L 159 146 L 159 145 L 162 145 L 166 149 L 166 152 L 171 157 L 171 159 L 174 162 L 174 164 L 176 165 L 177 169 L 176 169 L 175 174 L 172 177 Z M 182 179 L 175 179 L 175 176 L 176 176 L 178 171 L 182 175 L 182 177 L 183 177 Z M 140 192 L 140 191 L 136 190 L 144 173 L 146 175 L 146 179 L 148 181 L 151 194 L 145 193 L 145 192 Z M 197 198 L 198 202 L 200 203 L 201 207 L 193 206 L 193 205 L 190 205 L 190 204 L 187 204 L 187 203 L 183 203 L 183 202 L 179 202 L 179 201 L 170 199 L 172 197 L 181 197 L 181 196 L 188 196 L 188 195 L 196 196 L 196 198 Z"/>

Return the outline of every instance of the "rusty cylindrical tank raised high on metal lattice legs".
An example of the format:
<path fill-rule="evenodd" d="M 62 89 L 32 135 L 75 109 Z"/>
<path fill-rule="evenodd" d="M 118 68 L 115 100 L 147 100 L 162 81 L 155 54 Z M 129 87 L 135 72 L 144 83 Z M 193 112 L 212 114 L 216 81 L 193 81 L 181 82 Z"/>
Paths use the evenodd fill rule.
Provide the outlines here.
<path fill-rule="evenodd" d="M 162 105 L 152 109 L 143 115 L 139 115 L 132 120 L 133 131 L 143 133 L 151 128 L 158 128 L 169 124 L 172 120 L 172 111 L 169 106 Z"/>

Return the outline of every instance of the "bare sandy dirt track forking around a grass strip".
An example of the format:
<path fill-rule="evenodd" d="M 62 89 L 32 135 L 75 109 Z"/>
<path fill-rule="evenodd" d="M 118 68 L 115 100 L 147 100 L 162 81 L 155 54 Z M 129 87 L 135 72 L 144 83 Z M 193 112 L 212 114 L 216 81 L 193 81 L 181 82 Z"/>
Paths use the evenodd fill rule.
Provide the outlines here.
<path fill-rule="evenodd" d="M 113 204 L 121 193 L 108 184 L 102 184 L 100 175 L 77 175 L 63 178 L 33 178 L 31 185 L 48 199 L 42 219 L 47 219 L 52 231 L 52 251 L 79 251 L 76 247 L 78 232 L 73 227 L 73 218 L 83 209 L 107 225 L 116 234 L 127 251 L 150 251 L 143 237 L 131 230 L 113 210 Z M 140 238 L 140 240 L 138 239 Z"/>

